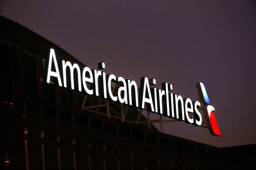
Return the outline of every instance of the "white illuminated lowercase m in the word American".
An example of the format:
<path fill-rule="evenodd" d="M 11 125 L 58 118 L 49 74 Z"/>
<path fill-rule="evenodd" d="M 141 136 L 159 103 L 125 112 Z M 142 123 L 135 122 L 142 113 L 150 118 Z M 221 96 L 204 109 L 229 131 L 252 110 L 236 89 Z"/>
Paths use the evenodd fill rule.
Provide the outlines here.
<path fill-rule="evenodd" d="M 78 89 L 81 92 L 82 91 L 82 88 L 81 88 L 81 74 L 80 74 L 79 66 L 76 63 L 73 64 L 73 66 L 72 66 L 72 64 L 69 61 L 67 61 L 65 63 L 65 61 L 62 60 L 64 87 L 67 87 L 67 77 L 66 77 L 66 68 L 67 68 L 67 66 L 69 66 L 69 68 L 70 68 L 71 89 L 73 89 L 73 90 L 75 89 L 74 88 L 74 74 L 73 73 L 74 73 L 74 69 L 76 68 L 77 69 L 77 74 L 78 74 Z"/>

